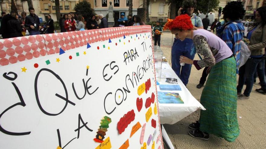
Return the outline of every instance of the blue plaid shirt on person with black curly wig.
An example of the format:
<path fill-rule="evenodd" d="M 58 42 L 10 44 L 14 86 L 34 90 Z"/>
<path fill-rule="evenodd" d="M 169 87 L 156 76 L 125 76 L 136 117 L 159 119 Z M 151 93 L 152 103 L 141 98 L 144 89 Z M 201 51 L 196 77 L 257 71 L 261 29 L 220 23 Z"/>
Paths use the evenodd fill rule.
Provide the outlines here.
<path fill-rule="evenodd" d="M 244 36 L 245 28 L 241 21 L 230 21 L 227 24 L 228 25 L 225 24 L 225 28 L 222 32 L 222 40 L 232 50 L 238 68 L 241 49 L 240 42 Z"/>

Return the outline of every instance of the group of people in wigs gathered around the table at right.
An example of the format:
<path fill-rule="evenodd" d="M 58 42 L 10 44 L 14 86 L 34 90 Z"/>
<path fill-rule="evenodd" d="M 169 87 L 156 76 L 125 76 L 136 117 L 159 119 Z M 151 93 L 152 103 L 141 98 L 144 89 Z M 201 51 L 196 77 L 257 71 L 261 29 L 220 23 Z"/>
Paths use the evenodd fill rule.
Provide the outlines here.
<path fill-rule="evenodd" d="M 197 88 L 203 87 L 209 75 L 200 98 L 206 110 L 201 110 L 200 119 L 188 126 L 193 129 L 188 134 L 204 140 L 213 134 L 233 142 L 240 133 L 237 100 L 249 99 L 256 76 L 261 85 L 256 91 L 266 94 L 266 7 L 255 11 L 256 23 L 249 29 L 247 36 L 244 36 L 245 29 L 240 20 L 245 15 L 241 2 L 232 1 L 223 8 L 224 21 L 216 19 L 211 25 L 212 32 L 216 33 L 206 30 L 208 16 L 203 20 L 193 16 L 195 8 L 195 0 L 183 1 L 178 16 L 174 20 L 168 19 L 164 25 L 164 30 L 169 29 L 175 35 L 171 62 L 183 84 L 188 83 L 192 65 L 197 70 L 204 68 Z M 251 56 L 240 66 L 243 47 L 251 51 Z M 200 60 L 193 60 L 196 53 Z M 181 66 L 181 63 L 185 65 Z M 246 88 L 242 94 L 244 84 Z"/>

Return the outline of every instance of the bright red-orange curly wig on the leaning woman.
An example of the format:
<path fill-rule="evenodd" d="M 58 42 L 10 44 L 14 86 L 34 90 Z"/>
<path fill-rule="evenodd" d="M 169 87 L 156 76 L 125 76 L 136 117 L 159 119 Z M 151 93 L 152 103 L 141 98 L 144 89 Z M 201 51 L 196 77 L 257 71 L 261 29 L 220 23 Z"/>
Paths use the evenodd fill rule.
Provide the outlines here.
<path fill-rule="evenodd" d="M 164 25 L 164 30 L 166 29 L 191 30 L 193 29 L 193 25 L 191 23 L 190 16 L 182 14 L 177 16 L 174 20 L 167 19 L 167 22 Z"/>

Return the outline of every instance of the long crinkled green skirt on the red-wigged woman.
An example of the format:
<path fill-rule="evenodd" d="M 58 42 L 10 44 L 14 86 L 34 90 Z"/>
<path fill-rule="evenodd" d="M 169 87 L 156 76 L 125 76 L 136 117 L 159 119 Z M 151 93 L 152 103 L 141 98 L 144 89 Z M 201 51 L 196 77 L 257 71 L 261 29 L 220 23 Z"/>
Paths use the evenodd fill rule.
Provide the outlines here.
<path fill-rule="evenodd" d="M 237 121 L 236 62 L 224 59 L 212 67 L 202 91 L 200 131 L 233 142 L 239 135 Z"/>

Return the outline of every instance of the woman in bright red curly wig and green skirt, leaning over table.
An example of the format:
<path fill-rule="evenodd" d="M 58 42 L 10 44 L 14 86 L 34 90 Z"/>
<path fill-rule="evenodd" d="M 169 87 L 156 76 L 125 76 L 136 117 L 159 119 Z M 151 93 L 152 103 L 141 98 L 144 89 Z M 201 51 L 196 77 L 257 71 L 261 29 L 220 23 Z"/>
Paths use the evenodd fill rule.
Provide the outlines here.
<path fill-rule="evenodd" d="M 200 103 L 206 108 L 201 110 L 200 120 L 189 125 L 189 135 L 204 140 L 209 134 L 233 142 L 239 135 L 236 114 L 236 62 L 232 50 L 222 39 L 204 30 L 193 30 L 190 17 L 180 15 L 168 20 L 164 29 L 169 28 L 172 34 L 181 41 L 193 39 L 194 53 L 203 55 L 202 60 L 193 61 L 180 56 L 180 63 L 194 64 L 197 70 L 209 67 L 209 78 L 202 91 Z"/>

